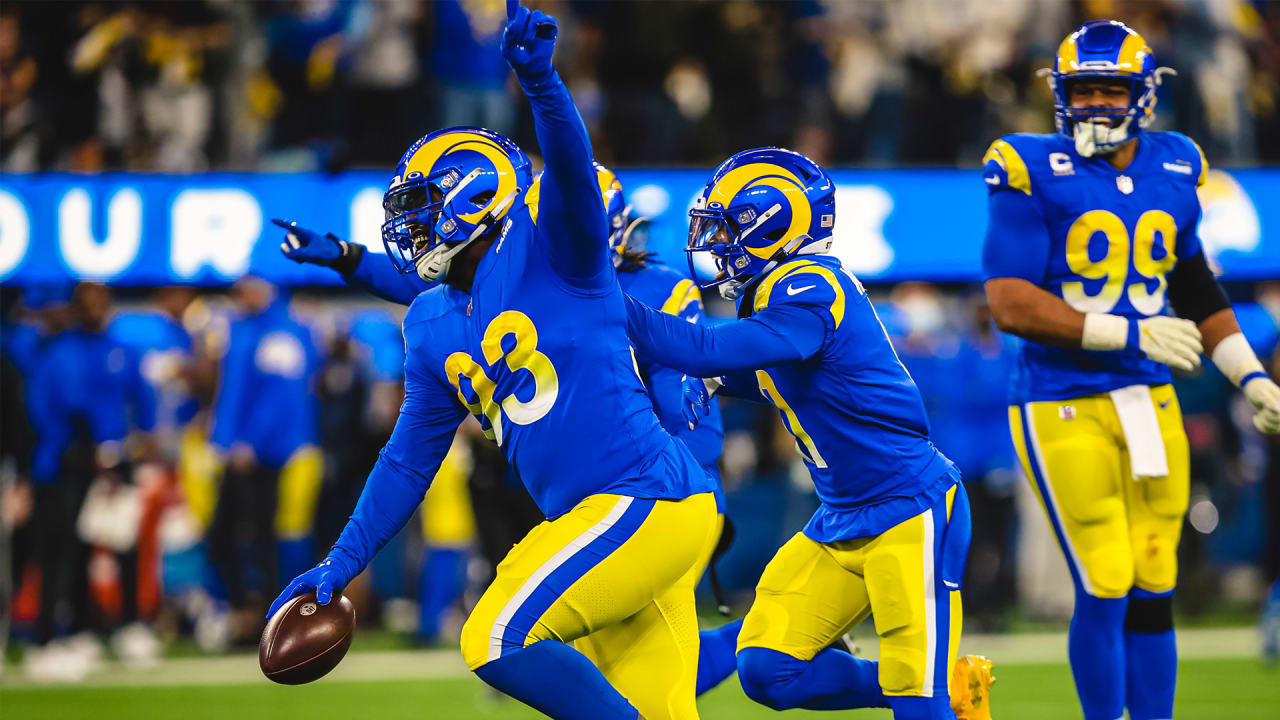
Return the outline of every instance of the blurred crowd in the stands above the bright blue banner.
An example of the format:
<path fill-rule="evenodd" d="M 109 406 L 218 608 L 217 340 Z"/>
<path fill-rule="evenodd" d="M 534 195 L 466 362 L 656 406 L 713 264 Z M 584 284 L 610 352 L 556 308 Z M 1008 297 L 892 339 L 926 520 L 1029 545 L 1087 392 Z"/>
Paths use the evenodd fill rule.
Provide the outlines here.
<path fill-rule="evenodd" d="M 1178 70 L 1161 128 L 1216 164 L 1280 161 L 1277 3 L 540 5 L 567 26 L 557 64 L 611 165 L 705 165 L 765 143 L 836 165 L 975 165 L 993 137 L 1052 131 L 1036 70 L 1097 17 L 1126 20 Z M 503 13 L 503 0 L 10 0 L 0 169 L 389 167 L 454 124 L 532 146 L 498 54 Z"/>

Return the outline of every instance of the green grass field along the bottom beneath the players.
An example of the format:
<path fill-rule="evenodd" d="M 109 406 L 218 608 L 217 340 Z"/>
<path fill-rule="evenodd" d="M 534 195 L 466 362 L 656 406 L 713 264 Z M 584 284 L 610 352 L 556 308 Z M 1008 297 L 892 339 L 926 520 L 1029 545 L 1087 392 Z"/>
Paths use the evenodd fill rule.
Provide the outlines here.
<path fill-rule="evenodd" d="M 1069 720 L 1080 717 L 1066 665 L 1001 665 L 992 707 L 996 720 Z M 701 716 L 751 720 L 776 717 L 742 696 L 730 682 L 699 702 Z M 792 711 L 786 717 L 887 720 L 888 711 Z M 472 678 L 390 682 L 319 682 L 280 687 L 266 682 L 228 685 L 104 688 L 0 688 L 4 720 L 517 720 L 538 712 L 493 696 Z M 1280 670 L 1253 660 L 1183 662 L 1178 687 L 1179 720 L 1275 720 L 1280 717 Z"/>

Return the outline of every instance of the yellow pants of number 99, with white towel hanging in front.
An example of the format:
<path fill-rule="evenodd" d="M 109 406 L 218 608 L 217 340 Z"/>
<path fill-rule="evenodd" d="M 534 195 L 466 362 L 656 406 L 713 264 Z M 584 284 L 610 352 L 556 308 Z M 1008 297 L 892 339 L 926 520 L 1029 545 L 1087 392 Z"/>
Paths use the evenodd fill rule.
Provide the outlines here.
<path fill-rule="evenodd" d="M 1110 395 L 1009 409 L 1023 470 L 1044 507 L 1076 587 L 1124 597 L 1178 583 L 1178 541 L 1190 460 L 1172 386 L 1151 388 L 1169 475 L 1134 479 Z"/>

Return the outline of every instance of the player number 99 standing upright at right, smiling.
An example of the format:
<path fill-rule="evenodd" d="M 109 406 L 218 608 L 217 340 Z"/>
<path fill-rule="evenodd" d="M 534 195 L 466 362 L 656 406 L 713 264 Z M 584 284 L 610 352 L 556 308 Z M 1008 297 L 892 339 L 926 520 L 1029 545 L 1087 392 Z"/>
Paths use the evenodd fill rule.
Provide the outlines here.
<path fill-rule="evenodd" d="M 1170 368 L 1196 369 L 1203 348 L 1254 425 L 1280 430 L 1280 388 L 1196 234 L 1204 155 L 1146 131 L 1165 72 L 1128 26 L 1085 23 L 1048 70 L 1059 132 L 1005 136 L 983 160 L 987 297 L 1023 338 L 1010 429 L 1075 584 L 1087 720 L 1172 716 L 1189 460 Z"/>

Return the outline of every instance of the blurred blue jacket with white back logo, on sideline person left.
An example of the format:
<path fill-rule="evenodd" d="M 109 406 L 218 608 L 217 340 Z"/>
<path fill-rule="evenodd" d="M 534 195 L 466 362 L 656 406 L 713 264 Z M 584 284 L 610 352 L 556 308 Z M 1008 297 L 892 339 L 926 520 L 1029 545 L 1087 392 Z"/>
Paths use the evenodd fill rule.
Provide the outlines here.
<path fill-rule="evenodd" d="M 320 365 L 311 332 L 278 297 L 230 325 L 214 401 L 211 441 L 221 450 L 247 445 L 257 461 L 282 468 L 303 445 L 319 442 L 314 377 Z"/>

